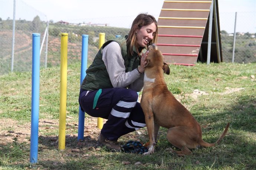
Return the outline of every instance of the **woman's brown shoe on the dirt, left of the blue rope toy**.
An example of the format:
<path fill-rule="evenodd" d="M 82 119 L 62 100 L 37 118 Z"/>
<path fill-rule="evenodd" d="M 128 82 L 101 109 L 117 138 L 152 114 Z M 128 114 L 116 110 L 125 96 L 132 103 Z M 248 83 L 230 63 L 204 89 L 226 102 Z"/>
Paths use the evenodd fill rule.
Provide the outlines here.
<path fill-rule="evenodd" d="M 121 146 L 118 145 L 117 141 L 108 140 L 101 133 L 98 137 L 98 145 L 105 146 L 111 152 L 119 152 L 121 150 Z"/>

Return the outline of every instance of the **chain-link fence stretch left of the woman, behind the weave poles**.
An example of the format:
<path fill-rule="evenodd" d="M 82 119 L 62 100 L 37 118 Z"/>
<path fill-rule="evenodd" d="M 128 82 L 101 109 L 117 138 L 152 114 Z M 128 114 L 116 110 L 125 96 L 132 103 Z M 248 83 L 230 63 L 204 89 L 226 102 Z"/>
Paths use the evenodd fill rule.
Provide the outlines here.
<path fill-rule="evenodd" d="M 16 1 L 15 31 L 13 33 L 13 13 L 10 13 L 7 18 L 4 18 L 1 13 L 3 8 L 13 11 L 13 4 L 3 6 L 1 4 L 3 1 L 0 2 L 0 75 L 10 71 L 32 70 L 32 33 L 41 34 L 40 66 L 45 67 L 45 61 L 47 61 L 47 67 L 51 67 L 60 64 L 60 33 L 68 33 L 68 63 L 70 64 L 81 61 L 82 34 L 89 35 L 88 63 L 90 63 L 98 52 L 99 33 L 105 33 L 105 41 L 107 41 L 114 38 L 115 35 L 127 35 L 129 32 L 129 28 L 122 28 L 116 23 L 116 27 L 105 24 L 106 20 L 113 20 L 113 18 L 79 19 L 79 21 L 83 21 L 79 24 L 78 20 L 69 23 L 64 20 L 53 23 L 50 20 L 47 51 L 45 51 L 46 42 L 43 42 L 43 35 L 47 28 L 46 16 L 23 1 Z M 31 21 L 23 19 L 24 10 L 26 13 L 29 12 L 29 16 L 33 16 L 30 18 Z M 135 17 L 115 17 L 115 20 L 131 20 Z M 13 35 L 15 36 L 14 41 Z M 12 49 L 14 50 L 12 51 Z M 47 58 L 45 53 L 47 53 Z"/>

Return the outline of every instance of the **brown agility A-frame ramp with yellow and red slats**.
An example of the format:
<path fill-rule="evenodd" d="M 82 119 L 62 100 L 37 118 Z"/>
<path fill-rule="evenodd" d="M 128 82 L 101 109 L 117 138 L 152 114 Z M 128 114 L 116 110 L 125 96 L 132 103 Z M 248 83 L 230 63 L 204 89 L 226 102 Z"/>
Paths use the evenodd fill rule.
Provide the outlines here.
<path fill-rule="evenodd" d="M 158 18 L 157 47 L 170 64 L 221 62 L 217 0 L 165 0 Z"/>

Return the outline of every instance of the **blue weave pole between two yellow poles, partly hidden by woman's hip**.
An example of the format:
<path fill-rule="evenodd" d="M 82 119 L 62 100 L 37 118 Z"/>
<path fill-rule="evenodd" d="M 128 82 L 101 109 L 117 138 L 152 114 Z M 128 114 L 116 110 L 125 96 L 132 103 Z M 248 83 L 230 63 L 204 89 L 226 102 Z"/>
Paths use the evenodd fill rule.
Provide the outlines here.
<path fill-rule="evenodd" d="M 82 54 L 81 54 L 81 75 L 80 75 L 80 85 L 86 76 L 87 69 L 87 58 L 88 58 L 88 35 L 82 35 Z M 78 116 L 78 141 L 83 140 L 83 134 L 85 129 L 85 112 L 81 110 L 79 106 L 79 116 Z"/>

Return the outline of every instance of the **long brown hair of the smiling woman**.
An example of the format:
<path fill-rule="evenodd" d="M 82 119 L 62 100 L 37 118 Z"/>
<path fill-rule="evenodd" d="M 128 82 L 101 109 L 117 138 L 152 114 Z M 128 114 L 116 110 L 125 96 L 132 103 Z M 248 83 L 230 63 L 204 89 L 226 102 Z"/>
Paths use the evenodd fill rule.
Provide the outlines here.
<path fill-rule="evenodd" d="M 132 22 L 131 30 L 129 31 L 129 34 L 128 34 L 128 38 L 126 40 L 128 54 L 130 54 L 130 55 L 133 54 L 133 46 L 134 45 L 136 47 L 137 53 L 138 54 L 140 53 L 139 45 L 137 44 L 137 41 L 136 41 L 137 40 L 136 31 L 138 29 L 141 29 L 141 27 L 148 26 L 152 23 L 155 23 L 155 26 L 157 27 L 157 20 L 155 20 L 155 18 L 153 16 L 151 16 L 147 13 L 139 14 L 134 19 L 134 21 Z M 152 43 L 156 43 L 156 42 L 157 42 L 157 29 L 155 31 L 153 39 L 150 42 L 148 42 L 147 47 L 148 47 L 148 45 L 150 45 Z"/>

